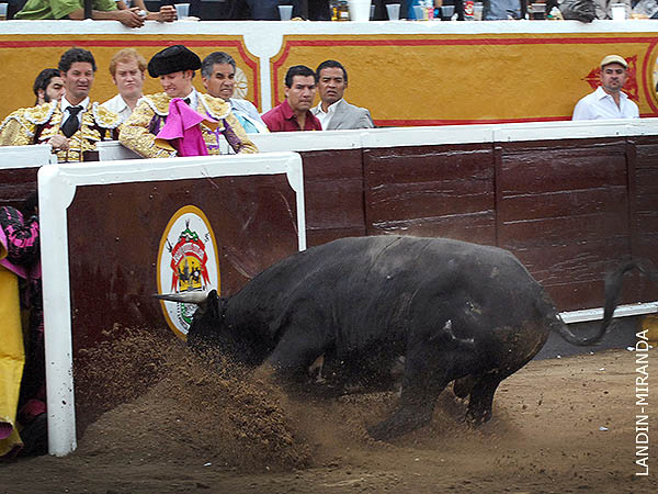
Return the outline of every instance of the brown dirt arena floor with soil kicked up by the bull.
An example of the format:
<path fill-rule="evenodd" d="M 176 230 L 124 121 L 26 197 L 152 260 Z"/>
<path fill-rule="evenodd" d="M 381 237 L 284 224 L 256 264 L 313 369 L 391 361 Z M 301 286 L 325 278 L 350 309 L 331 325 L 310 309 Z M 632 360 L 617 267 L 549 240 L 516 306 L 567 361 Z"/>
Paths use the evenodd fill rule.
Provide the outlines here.
<path fill-rule="evenodd" d="M 77 451 L 0 464 L 0 492 L 658 492 L 653 445 L 649 476 L 635 475 L 633 351 L 533 361 L 502 383 L 479 428 L 462 422 L 465 404 L 446 390 L 431 425 L 378 442 L 365 427 L 393 409 L 394 394 L 292 397 L 139 332 L 97 350 L 77 377 L 79 388 L 93 383 L 78 391 L 79 414 L 92 418 Z M 658 350 L 649 362 L 655 386 Z"/>

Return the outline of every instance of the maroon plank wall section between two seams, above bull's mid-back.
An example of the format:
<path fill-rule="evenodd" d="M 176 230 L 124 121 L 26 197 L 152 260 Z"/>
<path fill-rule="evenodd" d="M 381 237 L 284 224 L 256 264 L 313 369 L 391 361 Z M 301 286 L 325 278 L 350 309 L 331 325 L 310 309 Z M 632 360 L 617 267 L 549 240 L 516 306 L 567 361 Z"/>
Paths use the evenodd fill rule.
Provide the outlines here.
<path fill-rule="evenodd" d="M 368 235 L 496 243 L 488 144 L 366 149 L 364 182 Z"/>

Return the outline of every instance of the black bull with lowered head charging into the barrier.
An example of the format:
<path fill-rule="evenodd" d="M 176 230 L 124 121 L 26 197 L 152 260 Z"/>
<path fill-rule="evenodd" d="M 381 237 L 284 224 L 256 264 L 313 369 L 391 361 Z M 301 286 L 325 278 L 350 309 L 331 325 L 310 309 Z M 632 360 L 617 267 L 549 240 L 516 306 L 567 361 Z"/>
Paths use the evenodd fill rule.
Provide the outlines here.
<path fill-rule="evenodd" d="M 324 361 L 333 390 L 392 388 L 397 370 L 398 408 L 368 429 L 383 439 L 427 424 L 452 381 L 457 395 L 469 395 L 468 417 L 488 420 L 500 382 L 552 329 L 575 345 L 603 337 L 623 274 L 634 267 L 642 269 L 629 261 L 608 277 L 603 323 L 578 338 L 507 250 L 444 238 L 343 238 L 275 263 L 228 299 L 211 292 L 188 341 L 293 380 L 308 379 L 309 367 Z"/>

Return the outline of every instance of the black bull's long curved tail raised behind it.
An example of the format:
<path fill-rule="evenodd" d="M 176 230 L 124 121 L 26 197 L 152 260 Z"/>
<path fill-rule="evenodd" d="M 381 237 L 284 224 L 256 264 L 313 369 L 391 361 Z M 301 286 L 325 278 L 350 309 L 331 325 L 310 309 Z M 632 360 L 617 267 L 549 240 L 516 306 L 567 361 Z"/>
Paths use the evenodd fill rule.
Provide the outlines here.
<path fill-rule="evenodd" d="M 587 346 L 598 343 L 601 338 L 603 338 L 603 336 L 605 336 L 605 333 L 612 323 L 612 316 L 619 305 L 620 296 L 622 295 L 622 289 L 624 288 L 624 274 L 632 269 L 637 269 L 654 280 L 654 282 L 658 282 L 658 274 L 647 268 L 646 261 L 632 259 L 622 262 L 613 272 L 605 277 L 605 306 L 603 308 L 603 321 L 601 322 L 601 326 L 599 326 L 599 330 L 594 335 L 582 338 L 574 335 L 564 321 L 561 321 L 561 317 L 559 317 L 557 314 L 554 314 L 558 321 L 553 322 L 553 329 L 556 329 L 559 335 L 571 345 Z"/>

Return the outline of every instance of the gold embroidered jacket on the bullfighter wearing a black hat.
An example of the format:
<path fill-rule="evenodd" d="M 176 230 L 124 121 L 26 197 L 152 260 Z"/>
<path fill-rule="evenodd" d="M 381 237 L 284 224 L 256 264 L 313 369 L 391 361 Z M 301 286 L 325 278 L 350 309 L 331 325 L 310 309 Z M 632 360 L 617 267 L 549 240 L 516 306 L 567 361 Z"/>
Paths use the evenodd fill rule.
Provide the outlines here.
<path fill-rule="evenodd" d="M 196 111 L 219 122 L 212 130 L 201 123 L 201 133 L 209 155 L 230 153 L 258 153 L 258 147 L 247 137 L 247 133 L 235 115 L 230 104 L 209 94 L 197 93 Z M 166 92 L 143 97 L 137 106 L 122 126 L 118 139 L 121 144 L 145 158 L 170 158 L 175 150 L 167 142 L 156 141 L 156 134 L 164 125 L 169 114 L 171 98 Z"/>

